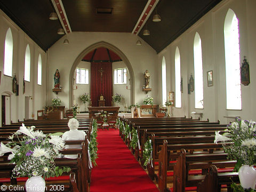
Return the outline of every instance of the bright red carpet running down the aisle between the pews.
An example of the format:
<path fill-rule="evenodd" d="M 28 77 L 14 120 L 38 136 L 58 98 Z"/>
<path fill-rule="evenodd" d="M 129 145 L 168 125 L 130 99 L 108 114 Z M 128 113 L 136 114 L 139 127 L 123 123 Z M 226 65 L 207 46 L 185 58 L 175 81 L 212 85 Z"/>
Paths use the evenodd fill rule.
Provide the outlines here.
<path fill-rule="evenodd" d="M 90 192 L 158 191 L 118 130 L 98 130 L 98 143 L 98 166 L 92 169 Z"/>

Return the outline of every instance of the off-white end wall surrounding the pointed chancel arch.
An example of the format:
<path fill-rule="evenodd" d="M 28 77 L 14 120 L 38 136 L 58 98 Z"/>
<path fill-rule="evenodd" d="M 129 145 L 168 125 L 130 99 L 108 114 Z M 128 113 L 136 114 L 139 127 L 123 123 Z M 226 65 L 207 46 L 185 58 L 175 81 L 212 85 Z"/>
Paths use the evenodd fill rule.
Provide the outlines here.
<path fill-rule="evenodd" d="M 158 97 L 158 67 L 156 65 L 157 55 L 156 52 L 142 39 L 142 45 L 136 45 L 139 37 L 131 33 L 87 33 L 87 32 L 73 32 L 68 34 L 68 45 L 64 45 L 63 41 L 65 37 L 62 37 L 57 43 L 55 43 L 49 49 L 49 83 L 47 87 L 47 94 L 49 95 L 47 102 L 50 105 L 51 99 L 55 98 L 55 93 L 52 92 L 53 88 L 53 74 L 56 69 L 60 71 L 60 84 L 62 86 L 62 92 L 58 94 L 58 97 L 62 101 L 62 105 L 71 106 L 73 103 L 69 103 L 69 74 L 71 67 L 74 65 L 78 55 L 82 53 L 86 47 L 98 42 L 107 42 L 119 50 L 121 50 L 127 59 L 130 61 L 135 82 L 135 103 L 142 103 L 146 97 L 145 92 L 142 91 L 142 86 L 145 85 L 144 73 L 148 69 L 150 76 L 150 88 L 152 91 L 148 93 L 149 96 Z M 113 92 L 115 94 L 115 92 Z M 122 93 L 121 93 L 122 94 Z M 71 105 L 70 105 L 71 104 Z M 156 103 L 158 104 L 158 103 Z M 127 103 L 127 106 L 129 104 Z M 121 109 L 122 110 L 122 109 Z"/>

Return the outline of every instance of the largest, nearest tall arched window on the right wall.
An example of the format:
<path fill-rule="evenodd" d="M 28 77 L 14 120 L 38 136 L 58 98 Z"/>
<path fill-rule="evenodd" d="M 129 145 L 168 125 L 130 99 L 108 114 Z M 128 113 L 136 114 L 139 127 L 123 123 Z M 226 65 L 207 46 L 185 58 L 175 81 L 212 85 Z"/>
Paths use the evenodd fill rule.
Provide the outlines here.
<path fill-rule="evenodd" d="M 238 20 L 229 9 L 224 23 L 227 109 L 242 109 Z"/>

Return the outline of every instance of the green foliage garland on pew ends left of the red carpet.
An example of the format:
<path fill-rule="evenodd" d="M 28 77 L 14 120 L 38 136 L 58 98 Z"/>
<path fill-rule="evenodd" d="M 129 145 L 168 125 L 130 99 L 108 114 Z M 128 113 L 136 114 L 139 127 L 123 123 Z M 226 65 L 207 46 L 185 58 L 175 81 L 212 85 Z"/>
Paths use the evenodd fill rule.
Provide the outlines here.
<path fill-rule="evenodd" d="M 97 142 L 97 120 L 93 119 L 92 123 L 92 132 L 90 135 L 90 143 L 89 143 L 89 151 L 90 151 L 90 156 L 91 156 L 91 161 L 93 165 L 97 165 L 96 159 L 98 158 L 98 142 Z"/>

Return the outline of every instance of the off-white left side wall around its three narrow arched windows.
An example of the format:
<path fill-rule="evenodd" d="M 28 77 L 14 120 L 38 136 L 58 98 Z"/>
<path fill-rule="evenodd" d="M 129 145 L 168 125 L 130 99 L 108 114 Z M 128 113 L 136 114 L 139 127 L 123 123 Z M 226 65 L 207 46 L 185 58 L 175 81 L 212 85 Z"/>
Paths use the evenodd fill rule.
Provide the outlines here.
<path fill-rule="evenodd" d="M 0 71 L 1 85 L 0 93 L 10 95 L 11 115 L 12 122 L 17 122 L 18 119 L 23 121 L 25 118 L 25 97 L 31 96 L 29 102 L 29 118 L 37 118 L 37 110 L 42 109 L 45 106 L 46 101 L 46 53 L 32 41 L 15 23 L 7 17 L 7 15 L 0 10 Z M 7 29 L 11 28 L 13 37 L 13 66 L 12 77 L 4 75 L 4 45 Z M 26 46 L 30 47 L 30 82 L 25 83 L 25 93 L 23 94 L 23 76 L 25 65 L 25 51 Z M 42 57 L 42 85 L 37 85 L 37 62 L 38 55 L 41 53 Z M 14 75 L 17 76 L 19 84 L 19 95 L 15 95 L 12 92 L 12 79 Z M 31 98 L 30 97 L 30 98 Z M 2 113 L 2 110 L 1 112 Z M 7 114 L 6 114 L 7 115 Z M 0 121 L 2 121 L 2 115 L 0 115 Z"/>

